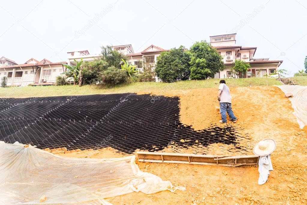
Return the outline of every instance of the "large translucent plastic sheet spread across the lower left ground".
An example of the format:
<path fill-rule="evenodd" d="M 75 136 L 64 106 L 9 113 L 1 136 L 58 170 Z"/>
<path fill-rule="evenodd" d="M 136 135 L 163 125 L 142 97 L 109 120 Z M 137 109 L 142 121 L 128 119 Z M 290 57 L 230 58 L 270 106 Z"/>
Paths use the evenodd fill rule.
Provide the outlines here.
<path fill-rule="evenodd" d="M 69 158 L 0 141 L 0 204 L 109 204 L 105 198 L 133 191 L 185 190 L 140 171 L 134 161 Z"/>

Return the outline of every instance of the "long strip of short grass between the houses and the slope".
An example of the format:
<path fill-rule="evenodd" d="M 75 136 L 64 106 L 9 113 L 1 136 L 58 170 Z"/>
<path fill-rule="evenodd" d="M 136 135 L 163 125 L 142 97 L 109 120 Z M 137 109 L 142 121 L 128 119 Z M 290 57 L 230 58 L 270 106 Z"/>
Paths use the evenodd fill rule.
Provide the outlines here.
<path fill-rule="evenodd" d="M 63 95 L 90 95 L 98 93 L 133 93 L 150 90 L 187 90 L 195 88 L 217 88 L 220 79 L 200 81 L 178 81 L 174 83 L 136 82 L 127 85 L 119 85 L 112 88 L 102 88 L 97 85 L 63 85 L 63 86 L 25 86 L 0 88 L 0 96 L 8 97 L 45 97 Z M 272 78 L 240 78 L 226 79 L 229 87 L 270 86 L 282 85 L 280 81 Z"/>

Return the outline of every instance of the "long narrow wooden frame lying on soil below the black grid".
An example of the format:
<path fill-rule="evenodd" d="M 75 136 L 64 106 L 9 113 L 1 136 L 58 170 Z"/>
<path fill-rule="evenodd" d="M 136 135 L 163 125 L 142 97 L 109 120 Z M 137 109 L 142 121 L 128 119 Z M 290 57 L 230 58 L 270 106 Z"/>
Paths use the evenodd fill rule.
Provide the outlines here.
<path fill-rule="evenodd" d="M 225 167 L 238 167 L 258 165 L 259 157 L 256 155 L 220 156 L 196 155 L 166 152 L 136 152 L 139 162 L 201 164 Z"/>

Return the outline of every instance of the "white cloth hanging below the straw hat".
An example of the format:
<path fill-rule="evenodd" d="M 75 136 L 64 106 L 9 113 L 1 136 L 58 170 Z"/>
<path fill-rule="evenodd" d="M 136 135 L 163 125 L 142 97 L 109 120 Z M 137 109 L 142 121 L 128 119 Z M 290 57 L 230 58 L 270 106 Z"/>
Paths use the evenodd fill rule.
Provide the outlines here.
<path fill-rule="evenodd" d="M 270 171 L 273 170 L 270 154 L 267 156 L 259 157 L 259 179 L 258 184 L 262 185 L 266 183 L 268 176 L 270 175 Z"/>

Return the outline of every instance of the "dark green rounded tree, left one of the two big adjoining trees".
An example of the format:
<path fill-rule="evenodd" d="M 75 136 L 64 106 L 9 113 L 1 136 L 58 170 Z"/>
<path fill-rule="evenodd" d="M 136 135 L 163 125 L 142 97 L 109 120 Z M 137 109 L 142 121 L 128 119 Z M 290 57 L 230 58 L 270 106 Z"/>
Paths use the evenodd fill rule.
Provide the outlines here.
<path fill-rule="evenodd" d="M 188 80 L 191 57 L 184 46 L 161 52 L 155 66 L 157 77 L 163 82 Z"/>

